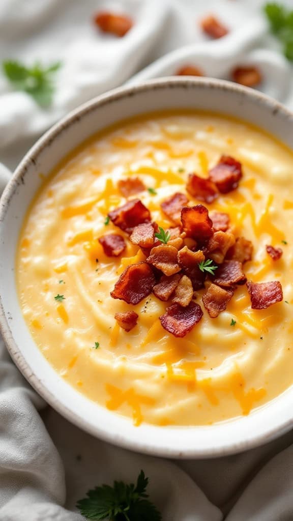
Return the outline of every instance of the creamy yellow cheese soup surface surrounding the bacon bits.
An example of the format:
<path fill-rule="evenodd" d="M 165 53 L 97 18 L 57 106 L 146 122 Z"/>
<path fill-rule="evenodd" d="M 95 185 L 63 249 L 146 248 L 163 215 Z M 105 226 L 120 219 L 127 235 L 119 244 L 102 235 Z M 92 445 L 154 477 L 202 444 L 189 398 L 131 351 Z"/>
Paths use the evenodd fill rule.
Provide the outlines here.
<path fill-rule="evenodd" d="M 238 188 L 210 203 L 197 200 L 186 190 L 189 173 L 206 178 L 223 154 L 242 165 Z M 247 415 L 291 386 L 292 170 L 291 152 L 263 131 L 182 111 L 128 120 L 67 157 L 29 209 L 16 260 L 23 315 L 60 377 L 136 426 L 209 425 Z M 123 195 L 118 181 L 129 178 L 141 180 L 144 190 Z M 159 319 L 172 298 L 151 292 L 131 305 L 111 296 L 125 269 L 145 262 L 149 252 L 107 214 L 137 198 L 166 231 L 176 225 L 161 203 L 176 192 L 187 195 L 188 206 L 229 215 L 230 230 L 253 245 L 243 264 L 247 279 L 279 281 L 282 302 L 253 309 L 247 285 L 238 284 L 212 318 L 202 302 L 211 274 L 192 297 L 201 320 L 178 338 Z M 109 233 L 124 238 L 117 256 L 107 256 L 98 240 Z M 195 250 L 192 238 L 184 244 Z M 267 245 L 283 255 L 272 258 Z M 138 316 L 130 331 L 115 319 L 126 311 Z"/>

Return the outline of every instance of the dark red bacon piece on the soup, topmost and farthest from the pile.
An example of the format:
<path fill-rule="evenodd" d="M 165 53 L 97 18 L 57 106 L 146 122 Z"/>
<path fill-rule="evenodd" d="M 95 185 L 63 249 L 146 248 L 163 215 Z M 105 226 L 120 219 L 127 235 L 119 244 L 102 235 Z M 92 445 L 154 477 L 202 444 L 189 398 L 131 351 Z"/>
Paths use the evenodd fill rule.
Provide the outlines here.
<path fill-rule="evenodd" d="M 209 171 L 209 176 L 217 189 L 222 194 L 226 194 L 238 187 L 242 177 L 241 163 L 234 157 L 221 156 L 218 164 Z"/>

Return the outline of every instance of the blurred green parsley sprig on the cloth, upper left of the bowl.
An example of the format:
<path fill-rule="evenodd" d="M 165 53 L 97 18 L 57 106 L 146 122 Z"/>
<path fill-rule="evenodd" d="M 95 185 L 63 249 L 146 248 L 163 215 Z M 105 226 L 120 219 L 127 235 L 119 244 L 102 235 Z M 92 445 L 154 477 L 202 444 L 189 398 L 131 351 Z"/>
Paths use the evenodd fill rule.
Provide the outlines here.
<path fill-rule="evenodd" d="M 49 67 L 44 67 L 38 62 L 32 67 L 26 67 L 16 60 L 5 60 L 2 63 L 6 78 L 16 90 L 27 92 L 42 107 L 48 107 L 52 103 L 54 94 L 52 75 L 60 66 L 59 61 Z"/>

